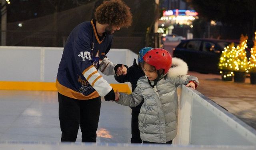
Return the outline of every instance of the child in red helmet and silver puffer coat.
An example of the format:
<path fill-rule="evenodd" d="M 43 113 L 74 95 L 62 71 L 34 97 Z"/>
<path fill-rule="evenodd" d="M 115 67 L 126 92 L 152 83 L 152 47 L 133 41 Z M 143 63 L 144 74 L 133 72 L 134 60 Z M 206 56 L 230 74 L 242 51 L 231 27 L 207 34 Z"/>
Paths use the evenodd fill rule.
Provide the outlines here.
<path fill-rule="evenodd" d="M 116 91 L 118 104 L 138 106 L 140 109 L 139 130 L 143 143 L 172 143 L 177 134 L 178 94 L 177 86 L 186 84 L 193 89 L 199 85 L 194 76 L 186 75 L 188 67 L 176 58 L 173 68 L 172 57 L 160 48 L 148 51 L 143 56 L 145 76 L 137 82 L 137 87 L 128 95 Z"/>

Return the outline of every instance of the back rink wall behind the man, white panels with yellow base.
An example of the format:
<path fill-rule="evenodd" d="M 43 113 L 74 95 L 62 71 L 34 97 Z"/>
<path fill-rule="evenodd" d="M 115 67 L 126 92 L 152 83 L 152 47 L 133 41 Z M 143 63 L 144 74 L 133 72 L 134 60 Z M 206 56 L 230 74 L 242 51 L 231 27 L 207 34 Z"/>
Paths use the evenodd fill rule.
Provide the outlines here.
<path fill-rule="evenodd" d="M 63 48 L 0 46 L 0 90 L 57 90 L 55 81 Z M 114 63 L 131 66 L 137 54 L 128 49 L 111 49 Z M 100 72 L 101 74 L 101 72 Z M 105 76 L 114 90 L 130 93 L 128 83 L 119 84 L 114 76 Z"/>

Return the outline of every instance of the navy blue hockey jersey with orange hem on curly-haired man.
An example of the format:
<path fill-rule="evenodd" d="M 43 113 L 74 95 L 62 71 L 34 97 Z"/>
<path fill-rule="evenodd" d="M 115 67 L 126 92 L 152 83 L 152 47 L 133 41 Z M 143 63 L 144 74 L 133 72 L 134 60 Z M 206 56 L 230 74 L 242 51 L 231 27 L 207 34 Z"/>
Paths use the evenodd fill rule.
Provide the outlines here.
<path fill-rule="evenodd" d="M 88 100 L 105 96 L 112 89 L 97 71 L 112 43 L 112 35 L 103 35 L 98 36 L 93 20 L 72 30 L 58 68 L 56 88 L 60 94 Z"/>

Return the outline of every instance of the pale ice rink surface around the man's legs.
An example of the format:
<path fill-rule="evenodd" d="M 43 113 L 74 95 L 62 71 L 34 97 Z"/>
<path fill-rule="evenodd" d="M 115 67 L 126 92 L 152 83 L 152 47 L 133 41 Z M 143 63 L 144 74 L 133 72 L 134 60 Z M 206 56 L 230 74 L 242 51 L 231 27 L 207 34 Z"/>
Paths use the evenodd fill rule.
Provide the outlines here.
<path fill-rule="evenodd" d="M 57 92 L 0 90 L 0 120 L 0 141 L 60 142 Z M 97 142 L 130 143 L 130 124 L 130 107 L 102 98 Z"/>

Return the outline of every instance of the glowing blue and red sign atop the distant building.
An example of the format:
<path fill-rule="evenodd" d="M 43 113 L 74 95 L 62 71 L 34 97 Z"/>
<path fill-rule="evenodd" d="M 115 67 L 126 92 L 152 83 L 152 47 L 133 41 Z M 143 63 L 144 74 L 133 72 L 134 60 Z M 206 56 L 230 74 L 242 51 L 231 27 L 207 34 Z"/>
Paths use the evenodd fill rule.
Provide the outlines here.
<path fill-rule="evenodd" d="M 181 9 L 174 9 L 174 10 L 164 10 L 163 16 L 197 16 L 198 12 L 194 10 L 181 10 Z"/>

